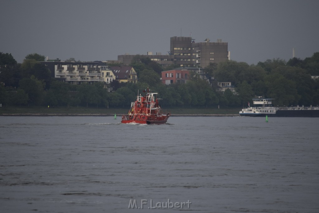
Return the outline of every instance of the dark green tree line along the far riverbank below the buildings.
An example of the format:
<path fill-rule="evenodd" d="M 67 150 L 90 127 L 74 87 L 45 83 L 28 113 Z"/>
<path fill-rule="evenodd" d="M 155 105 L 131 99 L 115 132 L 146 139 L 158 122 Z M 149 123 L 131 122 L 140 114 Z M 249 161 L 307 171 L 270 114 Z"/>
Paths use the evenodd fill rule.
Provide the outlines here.
<path fill-rule="evenodd" d="M 73 59 L 73 58 L 72 58 Z M 162 66 L 145 56 L 136 56 L 131 66 L 137 72 L 138 82 L 113 81 L 72 85 L 51 78 L 50 71 L 38 63 L 44 56 L 37 53 L 26 56 L 22 64 L 8 53 L 0 52 L 0 102 L 3 106 L 55 106 L 55 107 L 130 107 L 136 96 L 147 87 L 164 99 L 161 105 L 171 107 L 247 107 L 251 98 L 274 98 L 275 105 L 319 104 L 319 52 L 304 60 L 292 58 L 266 60 L 257 65 L 226 61 L 211 63 L 205 72 L 213 76 L 212 85 L 191 73 L 186 83 L 165 85 L 161 83 Z M 177 68 L 175 65 L 165 70 Z M 229 89 L 216 91 L 217 81 L 232 82 L 236 92 Z"/>

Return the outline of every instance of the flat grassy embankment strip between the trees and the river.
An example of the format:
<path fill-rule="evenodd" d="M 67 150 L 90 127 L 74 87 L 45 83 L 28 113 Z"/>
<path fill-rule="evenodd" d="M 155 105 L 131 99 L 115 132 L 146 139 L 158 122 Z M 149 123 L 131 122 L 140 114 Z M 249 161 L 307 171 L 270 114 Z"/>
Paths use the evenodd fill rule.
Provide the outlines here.
<path fill-rule="evenodd" d="M 170 112 L 172 116 L 234 116 L 240 109 L 206 109 L 206 108 L 172 108 L 163 112 Z M 21 116 L 114 116 L 126 114 L 127 108 L 85 108 L 85 107 L 0 107 L 0 115 Z"/>

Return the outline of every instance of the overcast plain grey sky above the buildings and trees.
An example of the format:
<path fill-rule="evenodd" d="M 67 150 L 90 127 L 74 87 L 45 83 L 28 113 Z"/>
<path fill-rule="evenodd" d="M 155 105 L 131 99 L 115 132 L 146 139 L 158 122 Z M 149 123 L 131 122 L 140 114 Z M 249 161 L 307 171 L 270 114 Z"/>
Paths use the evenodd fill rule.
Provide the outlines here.
<path fill-rule="evenodd" d="M 313 0 L 1 0 L 0 52 L 18 63 L 50 59 L 117 60 L 163 55 L 170 37 L 222 39 L 231 59 L 304 59 L 319 51 L 319 1 Z M 182 30 L 181 30 L 182 29 Z"/>

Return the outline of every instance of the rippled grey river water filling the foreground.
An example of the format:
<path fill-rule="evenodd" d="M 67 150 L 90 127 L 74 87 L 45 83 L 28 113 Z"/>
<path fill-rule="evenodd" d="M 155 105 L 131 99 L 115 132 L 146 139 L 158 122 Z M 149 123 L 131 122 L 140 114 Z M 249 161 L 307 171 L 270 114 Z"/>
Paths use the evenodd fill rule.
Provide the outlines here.
<path fill-rule="evenodd" d="M 0 212 L 319 212 L 318 118 L 0 121 Z"/>

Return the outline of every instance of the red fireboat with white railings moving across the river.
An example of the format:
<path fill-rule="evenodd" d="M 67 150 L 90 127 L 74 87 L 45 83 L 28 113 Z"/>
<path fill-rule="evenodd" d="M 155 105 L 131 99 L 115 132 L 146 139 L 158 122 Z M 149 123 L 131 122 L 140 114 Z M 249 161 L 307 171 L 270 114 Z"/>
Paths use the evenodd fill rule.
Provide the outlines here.
<path fill-rule="evenodd" d="M 165 124 L 170 113 L 162 114 L 157 93 L 150 93 L 148 88 L 143 92 L 146 92 L 146 95 L 137 95 L 136 101 L 131 103 L 129 113 L 122 116 L 121 123 Z M 156 95 L 156 98 L 154 95 Z"/>

